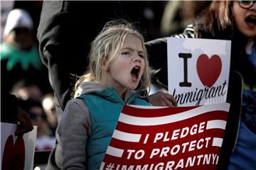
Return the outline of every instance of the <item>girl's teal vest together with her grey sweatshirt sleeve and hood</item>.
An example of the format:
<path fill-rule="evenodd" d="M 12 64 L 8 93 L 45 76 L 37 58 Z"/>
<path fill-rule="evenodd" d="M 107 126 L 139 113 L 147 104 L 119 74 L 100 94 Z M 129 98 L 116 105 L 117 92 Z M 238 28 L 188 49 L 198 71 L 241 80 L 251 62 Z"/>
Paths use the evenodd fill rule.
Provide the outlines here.
<path fill-rule="evenodd" d="M 63 169 L 100 169 L 123 106 L 150 105 L 139 98 L 140 91 L 127 91 L 123 101 L 112 87 L 87 84 L 85 89 L 68 102 L 58 127 Z"/>

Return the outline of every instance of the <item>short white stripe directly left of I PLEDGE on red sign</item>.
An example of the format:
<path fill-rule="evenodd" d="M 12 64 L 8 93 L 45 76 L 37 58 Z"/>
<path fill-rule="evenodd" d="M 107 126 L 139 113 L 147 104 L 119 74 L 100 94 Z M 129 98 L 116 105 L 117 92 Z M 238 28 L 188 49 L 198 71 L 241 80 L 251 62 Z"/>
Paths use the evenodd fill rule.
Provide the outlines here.
<path fill-rule="evenodd" d="M 123 140 L 127 142 L 139 142 L 142 135 L 114 130 L 112 137 L 114 137 L 117 140 Z"/>

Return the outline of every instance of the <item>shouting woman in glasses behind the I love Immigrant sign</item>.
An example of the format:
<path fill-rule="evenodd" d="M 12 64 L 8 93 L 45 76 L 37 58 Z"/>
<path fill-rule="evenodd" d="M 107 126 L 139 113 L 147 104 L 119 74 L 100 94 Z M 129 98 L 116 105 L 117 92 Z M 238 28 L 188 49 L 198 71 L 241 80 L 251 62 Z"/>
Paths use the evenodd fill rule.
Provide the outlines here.
<path fill-rule="evenodd" d="M 256 167 L 256 4 L 255 1 L 212 1 L 196 21 L 176 38 L 231 40 L 230 77 L 236 73 L 240 81 L 229 83 L 230 107 L 241 110 L 237 123 L 223 140 L 229 149 L 220 154 L 218 169 L 255 169 Z M 167 87 L 167 38 L 146 42 L 151 68 L 159 70 L 153 79 Z M 234 75 L 234 74 L 233 74 Z M 242 84 L 240 89 L 237 86 Z M 242 102 L 240 98 L 242 91 Z M 235 98 L 238 98 L 236 100 Z M 235 103 L 235 105 L 233 104 Z M 240 106 L 242 106 L 240 108 Z M 231 109 L 231 108 L 230 108 Z M 230 112 L 230 114 L 236 114 Z M 233 120 L 235 121 L 235 120 Z M 232 120 L 231 120 L 232 122 Z M 239 130 L 238 130 L 239 127 Z M 237 135 L 238 134 L 238 135 Z M 227 142 L 228 141 L 228 142 Z M 224 155 L 224 156 L 223 156 Z"/>

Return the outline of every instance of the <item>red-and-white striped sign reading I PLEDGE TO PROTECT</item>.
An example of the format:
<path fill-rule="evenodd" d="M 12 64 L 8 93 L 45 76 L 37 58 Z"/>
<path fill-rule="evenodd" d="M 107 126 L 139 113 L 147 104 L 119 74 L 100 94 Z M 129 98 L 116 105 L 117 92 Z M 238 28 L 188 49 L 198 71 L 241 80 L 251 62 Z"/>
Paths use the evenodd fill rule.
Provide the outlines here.
<path fill-rule="evenodd" d="M 100 169 L 215 169 L 229 107 L 124 106 Z"/>

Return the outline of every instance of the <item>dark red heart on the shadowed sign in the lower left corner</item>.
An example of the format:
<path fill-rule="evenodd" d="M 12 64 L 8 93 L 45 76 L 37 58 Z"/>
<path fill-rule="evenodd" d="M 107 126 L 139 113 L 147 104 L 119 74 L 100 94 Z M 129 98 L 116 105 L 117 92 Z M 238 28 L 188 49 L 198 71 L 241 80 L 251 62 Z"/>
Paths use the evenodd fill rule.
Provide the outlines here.
<path fill-rule="evenodd" d="M 25 144 L 23 137 L 19 136 L 14 144 L 14 138 L 10 135 L 4 146 L 2 169 L 24 169 L 25 166 Z"/>

